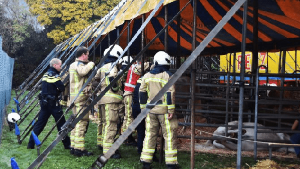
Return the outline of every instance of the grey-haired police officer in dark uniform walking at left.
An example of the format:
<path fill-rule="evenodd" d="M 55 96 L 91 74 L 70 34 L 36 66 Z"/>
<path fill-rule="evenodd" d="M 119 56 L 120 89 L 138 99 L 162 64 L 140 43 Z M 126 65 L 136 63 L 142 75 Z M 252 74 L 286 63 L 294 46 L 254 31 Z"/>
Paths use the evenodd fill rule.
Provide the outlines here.
<path fill-rule="evenodd" d="M 50 61 L 50 68 L 42 78 L 42 91 L 39 94 L 41 111 L 38 121 L 36 122 L 33 131 L 37 136 L 43 131 L 47 124 L 50 115 L 53 115 L 57 122 L 57 129 L 60 133 L 61 127 L 66 122 L 63 110 L 59 104 L 58 96 L 65 90 L 65 85 L 61 81 L 59 73 L 61 71 L 62 61 L 58 58 L 53 58 Z M 61 119 L 60 119 L 61 118 Z M 58 120 L 60 121 L 58 122 Z M 70 149 L 70 137 L 68 135 L 62 139 L 65 149 Z M 30 136 L 27 145 L 28 149 L 35 147 L 33 135 Z"/>

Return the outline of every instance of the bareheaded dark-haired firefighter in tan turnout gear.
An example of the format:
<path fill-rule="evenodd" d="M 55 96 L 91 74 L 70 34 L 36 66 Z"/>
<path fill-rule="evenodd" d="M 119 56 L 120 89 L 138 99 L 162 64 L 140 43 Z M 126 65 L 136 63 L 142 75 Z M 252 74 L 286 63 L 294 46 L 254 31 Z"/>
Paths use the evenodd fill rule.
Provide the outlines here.
<path fill-rule="evenodd" d="M 79 90 L 82 88 L 83 84 L 88 79 L 88 73 L 93 69 L 95 63 L 88 60 L 89 49 L 87 47 L 81 46 L 76 51 L 76 59 L 70 65 L 70 100 L 73 101 L 75 96 L 78 94 Z M 81 92 L 77 99 L 75 100 L 75 105 L 73 107 L 73 114 L 77 114 L 79 110 L 86 106 L 84 103 L 88 99 L 89 95 L 87 90 L 91 88 L 87 86 L 84 92 Z M 85 92 L 86 91 L 86 92 Z M 84 109 L 80 111 L 83 112 Z M 86 114 L 71 131 L 71 154 L 76 156 L 87 156 L 93 155 L 92 152 L 88 152 L 85 149 L 85 131 L 89 122 L 89 114 Z"/>

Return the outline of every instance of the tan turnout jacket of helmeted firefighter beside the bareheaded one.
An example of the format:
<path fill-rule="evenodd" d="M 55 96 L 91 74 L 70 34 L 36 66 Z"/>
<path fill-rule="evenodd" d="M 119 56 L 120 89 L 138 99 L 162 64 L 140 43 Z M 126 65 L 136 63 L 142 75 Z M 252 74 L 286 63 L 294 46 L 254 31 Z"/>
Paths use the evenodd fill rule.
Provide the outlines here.
<path fill-rule="evenodd" d="M 112 63 L 113 62 L 107 63 L 107 64 L 103 65 L 101 68 L 99 68 L 97 70 L 97 73 L 96 73 L 95 77 L 94 77 L 96 81 L 100 81 L 101 79 L 105 78 L 100 84 L 101 90 L 104 90 L 104 88 L 110 84 L 110 77 L 115 78 L 118 75 L 118 68 L 117 68 L 116 65 L 114 65 L 114 67 L 111 69 L 109 74 L 107 76 L 105 76 L 105 73 L 109 70 Z M 112 88 L 110 88 L 105 93 L 105 95 L 98 101 L 98 104 L 106 104 L 106 103 L 112 103 L 112 102 L 116 102 L 116 103 L 122 102 L 123 96 L 122 96 L 122 92 L 120 92 L 121 91 L 121 88 L 120 88 L 121 80 L 119 79 L 117 81 L 117 83 L 119 85 L 117 85 L 118 87 L 114 87 L 115 91 Z"/>

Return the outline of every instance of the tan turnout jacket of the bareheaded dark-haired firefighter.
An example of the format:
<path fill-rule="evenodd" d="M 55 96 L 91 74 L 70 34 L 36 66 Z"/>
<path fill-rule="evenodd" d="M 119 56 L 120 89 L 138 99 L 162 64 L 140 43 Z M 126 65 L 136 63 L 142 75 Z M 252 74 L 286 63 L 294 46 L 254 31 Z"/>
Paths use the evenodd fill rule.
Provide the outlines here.
<path fill-rule="evenodd" d="M 95 63 L 90 61 L 80 60 L 78 58 L 70 65 L 70 100 L 72 101 L 80 91 L 83 84 L 87 81 L 88 73 L 94 67 Z M 86 100 L 89 95 L 81 92 L 74 103 Z"/>

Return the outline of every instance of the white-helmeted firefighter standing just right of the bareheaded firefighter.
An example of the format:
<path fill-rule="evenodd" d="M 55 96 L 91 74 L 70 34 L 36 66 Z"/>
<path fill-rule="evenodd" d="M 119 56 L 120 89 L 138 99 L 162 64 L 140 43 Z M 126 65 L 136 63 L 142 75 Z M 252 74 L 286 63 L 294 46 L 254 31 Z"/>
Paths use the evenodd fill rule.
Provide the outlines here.
<path fill-rule="evenodd" d="M 109 48 L 105 49 L 104 55 L 110 50 L 113 45 L 110 45 Z M 105 89 L 106 86 L 118 75 L 117 65 L 113 65 L 114 62 L 123 52 L 123 49 L 115 44 L 112 50 L 109 52 L 108 57 L 104 61 L 104 65 L 97 70 L 95 75 L 96 81 L 101 81 L 101 91 Z M 110 67 L 112 69 L 110 70 Z M 106 72 L 109 72 L 108 75 L 105 75 Z M 119 106 L 122 102 L 123 96 L 121 91 L 121 80 L 119 79 L 106 93 L 105 95 L 97 102 L 101 105 L 102 112 L 102 121 L 103 121 L 103 153 L 106 153 L 108 149 L 114 143 L 114 139 L 117 133 L 117 123 L 119 120 Z M 117 150 L 111 158 L 121 158 L 120 152 Z"/>

